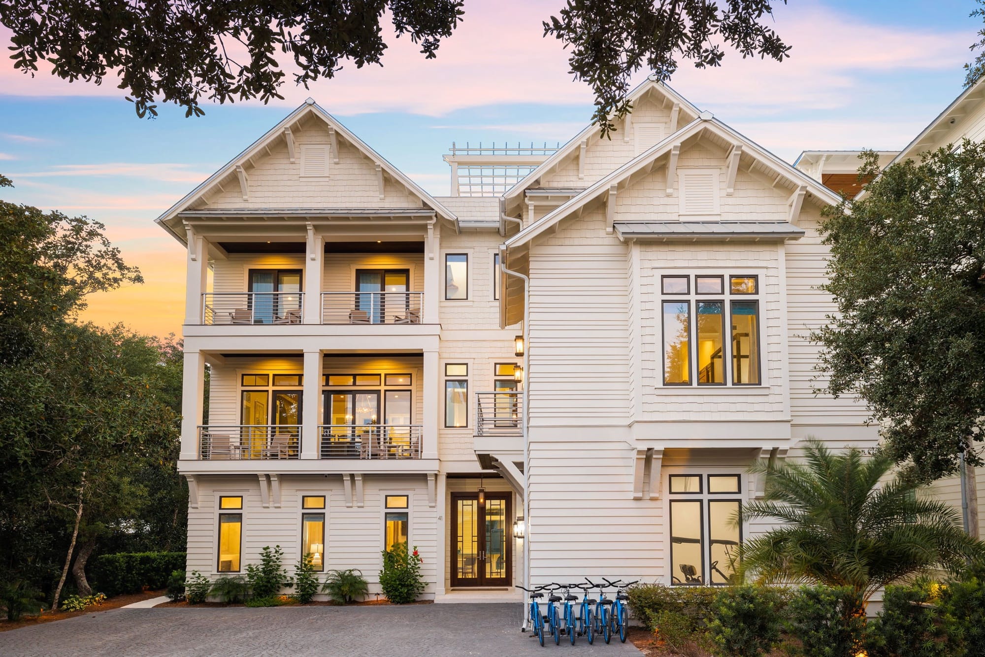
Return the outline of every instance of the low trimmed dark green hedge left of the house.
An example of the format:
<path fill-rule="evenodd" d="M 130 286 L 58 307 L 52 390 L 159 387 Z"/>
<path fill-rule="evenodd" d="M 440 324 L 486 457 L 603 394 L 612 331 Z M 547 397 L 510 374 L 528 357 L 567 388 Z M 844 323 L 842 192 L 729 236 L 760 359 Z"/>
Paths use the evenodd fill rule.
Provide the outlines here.
<path fill-rule="evenodd" d="M 93 589 L 107 596 L 163 589 L 175 570 L 184 570 L 185 552 L 100 554 L 90 568 Z"/>

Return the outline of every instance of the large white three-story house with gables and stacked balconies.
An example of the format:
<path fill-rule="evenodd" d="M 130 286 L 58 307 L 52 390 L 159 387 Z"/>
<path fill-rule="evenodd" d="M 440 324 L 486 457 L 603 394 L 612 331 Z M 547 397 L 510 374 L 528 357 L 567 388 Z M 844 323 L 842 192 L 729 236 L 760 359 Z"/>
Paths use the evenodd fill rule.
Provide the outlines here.
<path fill-rule="evenodd" d="M 646 82 L 609 137 L 456 148 L 434 198 L 308 102 L 158 222 L 188 249 L 187 569 L 409 541 L 427 597 L 724 583 L 747 469 L 815 436 L 838 196 Z M 462 195 L 459 195 L 462 194 Z M 205 366 L 211 373 L 203 421 Z"/>

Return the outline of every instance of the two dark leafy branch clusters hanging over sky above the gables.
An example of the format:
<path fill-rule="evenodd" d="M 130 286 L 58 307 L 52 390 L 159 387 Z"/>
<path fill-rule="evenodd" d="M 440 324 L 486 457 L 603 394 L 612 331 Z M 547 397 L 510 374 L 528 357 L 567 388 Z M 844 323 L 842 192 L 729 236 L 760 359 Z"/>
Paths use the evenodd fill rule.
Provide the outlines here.
<path fill-rule="evenodd" d="M 779 0 L 786 2 L 786 0 Z M 782 60 L 790 48 L 768 26 L 776 0 L 567 0 L 544 23 L 545 37 L 570 48 L 571 72 L 596 95 L 595 118 L 608 132 L 622 116 L 630 76 L 642 67 L 668 80 L 680 59 L 718 66 L 725 45 L 744 57 Z M 14 66 L 33 75 L 39 60 L 52 73 L 118 86 L 141 116 L 158 101 L 185 115 L 216 103 L 282 98 L 292 60 L 295 83 L 332 78 L 346 61 L 381 64 L 386 14 L 397 37 L 434 57 L 462 20 L 463 0 L 136 0 L 51 2 L 0 0 L 0 25 L 14 33 Z M 283 56 L 278 58 L 279 54 Z"/>

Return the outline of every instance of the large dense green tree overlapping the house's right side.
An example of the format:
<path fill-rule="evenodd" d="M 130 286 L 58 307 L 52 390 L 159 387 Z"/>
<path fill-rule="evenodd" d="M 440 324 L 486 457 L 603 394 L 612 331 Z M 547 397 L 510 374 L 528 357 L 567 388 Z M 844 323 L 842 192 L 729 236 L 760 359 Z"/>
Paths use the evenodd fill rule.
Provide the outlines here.
<path fill-rule="evenodd" d="M 824 211 L 837 313 L 813 335 L 819 368 L 830 393 L 868 402 L 892 459 L 933 479 L 985 428 L 985 144 L 881 175 L 870 153 L 866 178 L 864 198 Z"/>

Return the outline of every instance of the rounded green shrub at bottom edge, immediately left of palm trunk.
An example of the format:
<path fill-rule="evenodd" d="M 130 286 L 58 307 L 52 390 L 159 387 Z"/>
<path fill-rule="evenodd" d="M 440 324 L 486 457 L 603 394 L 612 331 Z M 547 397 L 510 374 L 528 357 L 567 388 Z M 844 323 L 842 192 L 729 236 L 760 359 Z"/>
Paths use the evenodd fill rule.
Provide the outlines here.
<path fill-rule="evenodd" d="M 790 601 L 790 631 L 810 657 L 854 657 L 865 634 L 862 610 L 851 587 L 803 586 Z"/>

